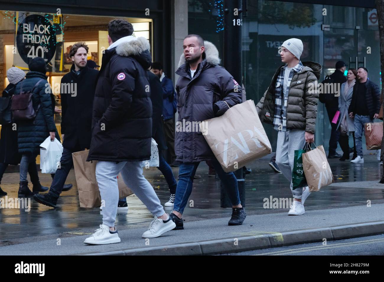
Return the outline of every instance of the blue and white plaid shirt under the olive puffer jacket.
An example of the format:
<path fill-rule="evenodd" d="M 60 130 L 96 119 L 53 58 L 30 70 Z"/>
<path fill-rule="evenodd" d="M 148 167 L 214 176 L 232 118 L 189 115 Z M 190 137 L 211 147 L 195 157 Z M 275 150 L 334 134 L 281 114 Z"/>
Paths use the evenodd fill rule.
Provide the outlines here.
<path fill-rule="evenodd" d="M 293 68 L 291 69 L 291 72 L 288 77 L 287 82 L 287 89 L 285 92 L 285 95 L 283 94 L 283 82 L 284 82 L 284 71 L 285 68 L 288 65 L 285 64 L 281 67 L 280 75 L 278 75 L 276 79 L 276 89 L 275 89 L 275 115 L 273 116 L 273 128 L 275 130 L 279 130 L 280 124 L 281 124 L 281 131 L 287 131 L 287 121 L 286 121 L 286 108 L 287 108 L 287 101 L 288 101 L 288 92 L 289 92 L 289 86 L 291 84 L 291 80 L 293 77 L 293 74 L 296 72 L 300 72 L 301 69 L 304 67 L 303 64 L 301 64 L 301 61 Z M 282 100 L 284 99 L 284 106 L 281 107 Z"/>

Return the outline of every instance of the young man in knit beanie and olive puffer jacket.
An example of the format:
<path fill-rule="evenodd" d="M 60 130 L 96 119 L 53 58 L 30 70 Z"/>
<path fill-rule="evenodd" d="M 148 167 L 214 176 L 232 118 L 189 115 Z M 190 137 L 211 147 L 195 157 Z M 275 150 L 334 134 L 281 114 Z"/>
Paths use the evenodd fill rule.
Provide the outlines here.
<path fill-rule="evenodd" d="M 318 94 L 310 91 L 321 75 L 321 65 L 301 62 L 303 42 L 291 38 L 280 47 L 281 62 L 271 84 L 257 104 L 260 120 L 270 123 L 278 131 L 276 164 L 291 182 L 295 198 L 288 215 L 305 213 L 304 202 L 310 194 L 308 187 L 293 189 L 292 170 L 295 150 L 303 149 L 306 142 L 314 141 Z"/>

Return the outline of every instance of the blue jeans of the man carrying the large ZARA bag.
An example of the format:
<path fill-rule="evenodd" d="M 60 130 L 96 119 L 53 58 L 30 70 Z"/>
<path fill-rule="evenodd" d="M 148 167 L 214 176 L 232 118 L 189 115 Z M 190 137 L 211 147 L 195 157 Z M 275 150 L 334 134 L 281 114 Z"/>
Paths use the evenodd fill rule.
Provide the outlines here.
<path fill-rule="evenodd" d="M 200 162 L 185 162 L 180 164 L 179 167 L 179 182 L 177 183 L 174 211 L 183 213 L 187 205 L 188 198 L 192 193 L 193 177 L 195 176 L 196 169 Z M 233 172 L 225 172 L 220 166 L 219 162 L 215 159 L 212 161 L 215 171 L 222 181 L 225 190 L 228 193 L 232 205 L 240 204 L 239 190 L 237 187 L 237 179 Z"/>

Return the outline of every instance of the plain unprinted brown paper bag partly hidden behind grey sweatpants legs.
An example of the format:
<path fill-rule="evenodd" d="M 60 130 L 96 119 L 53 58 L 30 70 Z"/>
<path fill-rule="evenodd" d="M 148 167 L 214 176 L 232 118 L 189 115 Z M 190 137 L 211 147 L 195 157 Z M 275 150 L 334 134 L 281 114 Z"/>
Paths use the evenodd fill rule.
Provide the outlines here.
<path fill-rule="evenodd" d="M 99 187 L 96 181 L 97 161 L 87 162 L 88 152 L 89 150 L 72 153 L 81 208 L 94 208 L 101 205 Z M 124 184 L 121 174 L 118 175 L 118 187 L 119 198 L 133 194 L 131 189 Z"/>

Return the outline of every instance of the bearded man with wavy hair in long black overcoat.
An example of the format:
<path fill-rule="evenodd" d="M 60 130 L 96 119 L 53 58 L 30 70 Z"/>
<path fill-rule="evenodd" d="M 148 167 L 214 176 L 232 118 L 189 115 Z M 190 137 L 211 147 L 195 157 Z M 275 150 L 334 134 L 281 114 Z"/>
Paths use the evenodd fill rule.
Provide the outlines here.
<path fill-rule="evenodd" d="M 89 149 L 91 144 L 92 102 L 99 72 L 86 66 L 87 54 L 88 46 L 84 42 L 73 44 L 70 57 L 74 64 L 61 79 L 63 154 L 50 191 L 33 197 L 37 202 L 50 207 L 56 207 L 63 191 L 73 166 L 72 153 Z"/>

